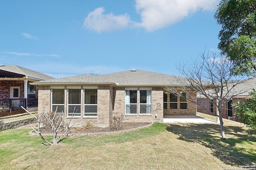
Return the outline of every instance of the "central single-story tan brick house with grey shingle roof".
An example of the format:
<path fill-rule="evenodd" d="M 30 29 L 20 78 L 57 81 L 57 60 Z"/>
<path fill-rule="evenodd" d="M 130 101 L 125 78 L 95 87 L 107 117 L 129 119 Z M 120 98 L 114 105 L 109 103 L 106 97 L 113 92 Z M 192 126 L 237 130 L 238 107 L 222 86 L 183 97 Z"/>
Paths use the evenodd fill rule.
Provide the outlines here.
<path fill-rule="evenodd" d="M 176 97 L 164 90 L 177 86 L 176 76 L 143 70 L 88 74 L 30 83 L 38 86 L 38 112 L 64 112 L 77 125 L 87 121 L 108 127 L 110 118 L 124 115 L 124 122 L 163 122 L 168 115 L 196 115 L 188 95 Z M 194 95 L 196 98 L 196 94 Z"/>

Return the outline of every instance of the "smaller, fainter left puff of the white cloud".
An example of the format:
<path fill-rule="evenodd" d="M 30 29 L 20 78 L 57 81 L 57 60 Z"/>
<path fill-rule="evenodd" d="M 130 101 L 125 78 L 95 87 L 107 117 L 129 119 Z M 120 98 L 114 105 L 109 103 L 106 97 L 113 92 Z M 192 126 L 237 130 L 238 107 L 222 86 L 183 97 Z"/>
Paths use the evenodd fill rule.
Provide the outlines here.
<path fill-rule="evenodd" d="M 83 27 L 92 29 L 98 33 L 102 31 L 112 31 L 124 29 L 132 22 L 128 14 L 114 16 L 114 14 L 103 14 L 104 8 L 96 8 L 90 12 L 84 20 Z"/>

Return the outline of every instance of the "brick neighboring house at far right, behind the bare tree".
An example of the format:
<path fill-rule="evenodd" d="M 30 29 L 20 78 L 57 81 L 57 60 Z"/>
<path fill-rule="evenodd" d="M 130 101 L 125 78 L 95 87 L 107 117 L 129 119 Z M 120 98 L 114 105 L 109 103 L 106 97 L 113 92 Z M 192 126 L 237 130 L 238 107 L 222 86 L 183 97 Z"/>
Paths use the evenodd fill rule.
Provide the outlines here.
<path fill-rule="evenodd" d="M 230 86 L 233 86 L 232 84 Z M 234 121 L 238 121 L 237 117 L 234 115 L 235 109 L 232 107 L 232 103 L 236 103 L 238 100 L 244 102 L 245 100 L 250 98 L 249 93 L 252 89 L 256 89 L 256 78 L 248 78 L 241 83 L 237 84 L 233 87 L 233 91 L 230 94 L 238 94 L 237 96 L 231 98 L 229 102 L 227 102 L 226 106 L 222 109 L 222 117 L 225 119 L 230 119 Z M 230 96 L 227 96 L 230 98 Z M 198 106 L 197 111 L 206 114 L 216 114 L 216 107 L 213 106 L 212 102 L 216 102 L 216 98 L 212 98 L 209 101 L 207 98 L 202 96 L 197 96 L 198 102 L 203 104 L 206 109 Z M 226 100 L 226 98 L 224 99 Z M 208 111 L 207 111 L 208 110 Z"/>

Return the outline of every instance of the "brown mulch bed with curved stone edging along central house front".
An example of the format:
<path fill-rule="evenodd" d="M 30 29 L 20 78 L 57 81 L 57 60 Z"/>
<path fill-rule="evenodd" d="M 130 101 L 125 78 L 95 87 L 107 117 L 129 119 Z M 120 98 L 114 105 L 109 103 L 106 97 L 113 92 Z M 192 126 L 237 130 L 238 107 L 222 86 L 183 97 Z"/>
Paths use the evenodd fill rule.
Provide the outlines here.
<path fill-rule="evenodd" d="M 140 127 L 145 127 L 150 125 L 151 123 L 123 123 L 123 127 L 122 129 L 120 129 L 119 131 L 123 132 L 123 131 L 130 131 L 131 129 L 137 129 Z M 31 128 L 31 127 L 30 127 Z M 42 127 L 40 128 L 40 132 L 41 134 L 49 134 L 52 135 L 52 130 L 50 128 L 46 128 L 46 127 Z M 35 132 L 33 132 L 34 134 L 36 134 Z M 62 134 L 64 133 L 64 131 L 59 131 L 58 134 Z M 113 130 L 110 129 L 110 127 L 92 127 L 92 129 L 86 129 L 83 130 L 83 127 L 72 127 L 69 131 L 68 131 L 68 135 L 83 135 L 83 134 L 93 134 L 93 135 L 97 135 L 97 134 L 112 134 L 112 133 L 118 133 L 117 130 Z"/>

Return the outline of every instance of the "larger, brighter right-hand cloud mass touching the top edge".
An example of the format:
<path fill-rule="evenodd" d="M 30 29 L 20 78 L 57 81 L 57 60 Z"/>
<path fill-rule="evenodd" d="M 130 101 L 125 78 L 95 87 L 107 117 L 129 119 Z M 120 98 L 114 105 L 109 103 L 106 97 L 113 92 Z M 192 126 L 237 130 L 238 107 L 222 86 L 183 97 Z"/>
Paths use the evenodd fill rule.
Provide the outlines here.
<path fill-rule="evenodd" d="M 214 10 L 220 0 L 136 0 L 136 10 L 147 31 L 177 23 L 199 10 Z"/>

